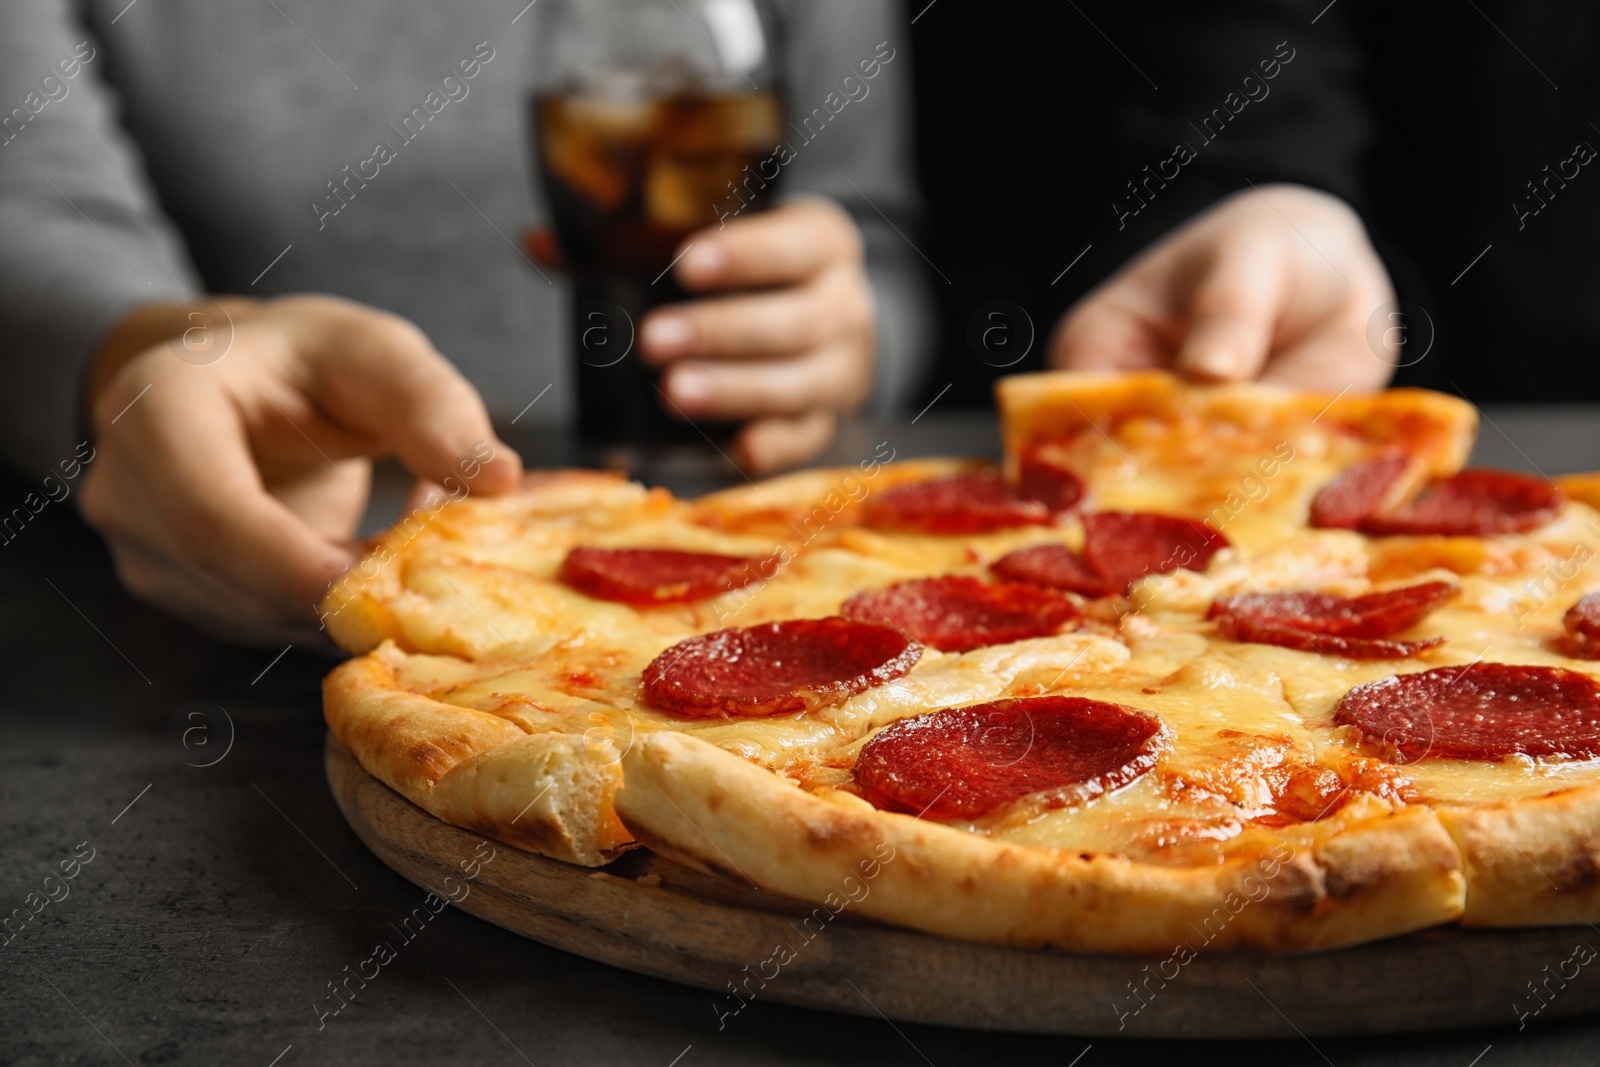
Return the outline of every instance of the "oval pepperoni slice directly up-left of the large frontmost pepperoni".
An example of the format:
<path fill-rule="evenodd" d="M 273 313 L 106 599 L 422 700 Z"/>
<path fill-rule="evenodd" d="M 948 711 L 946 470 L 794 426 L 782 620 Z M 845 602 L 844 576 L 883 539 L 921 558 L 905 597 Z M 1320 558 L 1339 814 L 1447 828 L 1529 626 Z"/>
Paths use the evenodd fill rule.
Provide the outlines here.
<path fill-rule="evenodd" d="M 838 704 L 917 665 L 886 625 L 789 619 L 678 641 L 645 669 L 645 699 L 678 715 L 779 715 Z"/>

